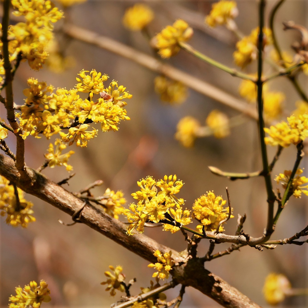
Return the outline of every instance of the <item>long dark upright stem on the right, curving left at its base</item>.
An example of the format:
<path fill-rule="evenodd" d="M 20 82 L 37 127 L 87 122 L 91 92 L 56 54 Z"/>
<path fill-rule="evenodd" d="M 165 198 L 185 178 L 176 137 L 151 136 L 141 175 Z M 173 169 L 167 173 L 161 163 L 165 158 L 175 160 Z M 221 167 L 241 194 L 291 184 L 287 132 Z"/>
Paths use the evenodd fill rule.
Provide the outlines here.
<path fill-rule="evenodd" d="M 263 64 L 263 27 L 264 27 L 264 10 L 265 10 L 265 0 L 260 0 L 259 4 L 259 35 L 257 41 L 258 47 L 258 72 L 257 72 L 257 110 L 259 116 L 259 137 L 260 137 L 260 146 L 261 146 L 261 158 L 262 158 L 262 174 L 265 179 L 266 193 L 267 193 L 267 224 L 265 229 L 265 234 L 260 238 L 259 242 L 254 243 L 262 244 L 264 241 L 270 238 L 270 235 L 274 232 L 273 230 L 273 217 L 274 217 L 274 202 L 276 196 L 273 191 L 272 181 L 270 177 L 270 168 L 267 159 L 267 150 L 264 141 L 265 132 L 264 132 L 264 119 L 263 119 L 263 99 L 262 99 L 262 90 L 263 90 L 263 81 L 262 81 L 262 64 Z"/>

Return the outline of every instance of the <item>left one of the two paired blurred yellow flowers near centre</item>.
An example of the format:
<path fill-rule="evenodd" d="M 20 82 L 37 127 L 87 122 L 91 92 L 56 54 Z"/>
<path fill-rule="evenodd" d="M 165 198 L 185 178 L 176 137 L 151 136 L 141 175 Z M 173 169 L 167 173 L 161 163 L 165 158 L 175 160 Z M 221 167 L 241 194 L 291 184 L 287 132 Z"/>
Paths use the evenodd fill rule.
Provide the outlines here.
<path fill-rule="evenodd" d="M 184 147 L 191 148 L 197 138 L 198 128 L 200 128 L 198 120 L 186 116 L 176 126 L 175 139 L 179 140 Z"/>

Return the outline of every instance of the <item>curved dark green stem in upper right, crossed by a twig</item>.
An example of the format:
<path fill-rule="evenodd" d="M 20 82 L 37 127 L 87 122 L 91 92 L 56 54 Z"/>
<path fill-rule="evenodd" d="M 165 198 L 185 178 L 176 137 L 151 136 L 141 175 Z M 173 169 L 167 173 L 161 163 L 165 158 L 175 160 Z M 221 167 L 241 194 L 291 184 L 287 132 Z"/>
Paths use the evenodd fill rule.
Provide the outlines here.
<path fill-rule="evenodd" d="M 272 31 L 272 38 L 273 38 L 273 45 L 277 51 L 278 57 L 279 59 L 282 61 L 282 67 L 286 68 L 286 64 L 283 61 L 283 57 L 282 57 L 282 51 L 278 45 L 278 41 L 276 38 L 276 34 L 274 31 L 274 18 L 276 16 L 276 13 L 278 11 L 278 9 L 280 8 L 280 6 L 283 4 L 283 2 L 285 2 L 285 0 L 279 0 L 276 5 L 273 7 L 272 11 L 270 12 L 270 30 Z M 308 97 L 305 94 L 305 92 L 302 90 L 302 88 L 300 87 L 300 85 L 298 84 L 298 81 L 296 79 L 295 76 L 290 76 L 287 75 L 288 79 L 291 81 L 291 83 L 293 84 L 294 88 L 296 89 L 296 91 L 298 92 L 298 95 L 306 102 L 308 102 Z"/>

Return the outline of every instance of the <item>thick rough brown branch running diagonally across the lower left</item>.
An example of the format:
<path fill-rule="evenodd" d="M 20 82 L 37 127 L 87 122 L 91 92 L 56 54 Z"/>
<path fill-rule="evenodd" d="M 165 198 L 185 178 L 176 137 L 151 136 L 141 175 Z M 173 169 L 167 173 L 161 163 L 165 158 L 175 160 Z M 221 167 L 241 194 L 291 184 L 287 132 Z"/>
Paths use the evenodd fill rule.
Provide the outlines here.
<path fill-rule="evenodd" d="M 39 197 L 43 201 L 46 201 L 71 216 L 76 210 L 83 206 L 82 200 L 49 180 L 43 174 L 28 167 L 26 167 L 26 171 L 30 177 L 28 181 L 22 179 L 14 165 L 14 160 L 0 154 L 0 174 L 16 184 L 26 193 Z M 142 234 L 135 234 L 133 236 L 126 235 L 126 226 L 124 223 L 115 220 L 91 205 L 86 205 L 84 207 L 80 214 L 79 221 L 109 237 L 149 262 L 156 261 L 156 258 L 153 256 L 153 252 L 156 249 L 162 252 L 172 250 Z M 236 288 L 230 286 L 215 274 L 205 270 L 201 259 L 193 258 L 186 262 L 186 260 L 180 256 L 180 253 L 174 250 L 172 250 L 172 257 L 178 266 L 172 270 L 171 274 L 180 284 L 196 288 L 224 307 L 260 308 L 259 305 L 252 302 Z"/>

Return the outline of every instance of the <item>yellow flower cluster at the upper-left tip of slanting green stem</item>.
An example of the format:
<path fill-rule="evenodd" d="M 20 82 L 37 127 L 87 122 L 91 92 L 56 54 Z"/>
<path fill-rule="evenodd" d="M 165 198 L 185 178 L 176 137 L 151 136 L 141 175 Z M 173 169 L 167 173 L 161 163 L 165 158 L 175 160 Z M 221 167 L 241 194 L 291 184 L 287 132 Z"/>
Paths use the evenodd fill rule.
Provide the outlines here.
<path fill-rule="evenodd" d="M 193 36 L 193 29 L 182 19 L 176 20 L 154 37 L 154 45 L 162 58 L 170 58 L 180 51 L 179 42 L 186 42 Z"/>

